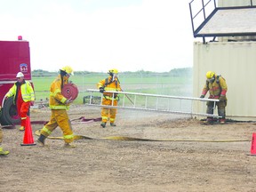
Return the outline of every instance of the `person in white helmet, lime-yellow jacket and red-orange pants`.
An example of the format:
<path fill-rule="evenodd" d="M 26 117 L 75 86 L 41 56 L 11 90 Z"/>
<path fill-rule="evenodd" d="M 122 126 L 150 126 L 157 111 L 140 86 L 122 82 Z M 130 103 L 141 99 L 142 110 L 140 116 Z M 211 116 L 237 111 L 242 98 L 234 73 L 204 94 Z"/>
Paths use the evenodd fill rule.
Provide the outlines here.
<path fill-rule="evenodd" d="M 24 131 L 26 127 L 26 119 L 29 116 L 30 105 L 34 105 L 35 92 L 32 85 L 25 81 L 24 74 L 19 72 L 17 74 L 17 82 L 13 84 L 9 92 L 4 96 L 4 99 L 13 97 L 13 103 L 17 106 L 17 112 L 20 116 L 20 131 Z"/>

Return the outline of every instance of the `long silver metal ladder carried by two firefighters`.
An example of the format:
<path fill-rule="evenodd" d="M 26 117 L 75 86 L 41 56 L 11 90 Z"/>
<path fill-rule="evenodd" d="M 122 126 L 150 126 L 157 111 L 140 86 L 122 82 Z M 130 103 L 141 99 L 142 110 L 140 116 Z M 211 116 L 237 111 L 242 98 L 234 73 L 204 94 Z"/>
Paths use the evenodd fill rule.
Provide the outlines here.
<path fill-rule="evenodd" d="M 96 89 L 87 89 L 86 92 L 89 92 L 87 100 L 84 101 L 85 105 L 96 106 L 96 107 L 108 107 L 108 108 L 127 108 L 127 109 L 137 109 L 137 110 L 146 110 L 146 111 L 156 111 L 156 112 L 166 112 L 173 114 L 185 114 L 191 116 L 212 116 L 220 117 L 218 115 L 196 113 L 193 111 L 194 102 L 198 101 L 214 101 L 215 104 L 219 100 L 213 99 L 200 99 L 200 98 L 191 98 L 191 97 L 178 97 L 170 95 L 160 95 L 160 94 L 148 94 L 148 93 L 139 93 L 139 92 L 112 92 L 112 104 L 102 105 L 103 94 Z M 107 91 L 106 91 L 107 92 Z M 118 94 L 118 104 L 114 106 L 114 97 Z"/>

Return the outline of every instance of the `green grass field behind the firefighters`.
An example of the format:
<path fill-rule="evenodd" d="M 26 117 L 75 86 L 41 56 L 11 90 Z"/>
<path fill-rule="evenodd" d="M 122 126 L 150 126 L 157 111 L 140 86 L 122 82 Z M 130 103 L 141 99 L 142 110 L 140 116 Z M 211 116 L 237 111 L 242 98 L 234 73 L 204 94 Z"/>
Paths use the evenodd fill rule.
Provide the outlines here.
<path fill-rule="evenodd" d="M 82 104 L 84 96 L 89 93 L 87 89 L 97 89 L 97 83 L 108 77 L 108 74 L 85 74 L 84 76 L 71 76 L 72 81 L 79 90 L 76 104 Z M 49 98 L 49 89 L 56 76 L 32 76 L 36 92 L 36 100 L 46 100 Z M 150 94 L 164 94 L 172 96 L 192 95 L 192 76 L 129 76 L 119 74 L 124 92 L 141 92 Z"/>

